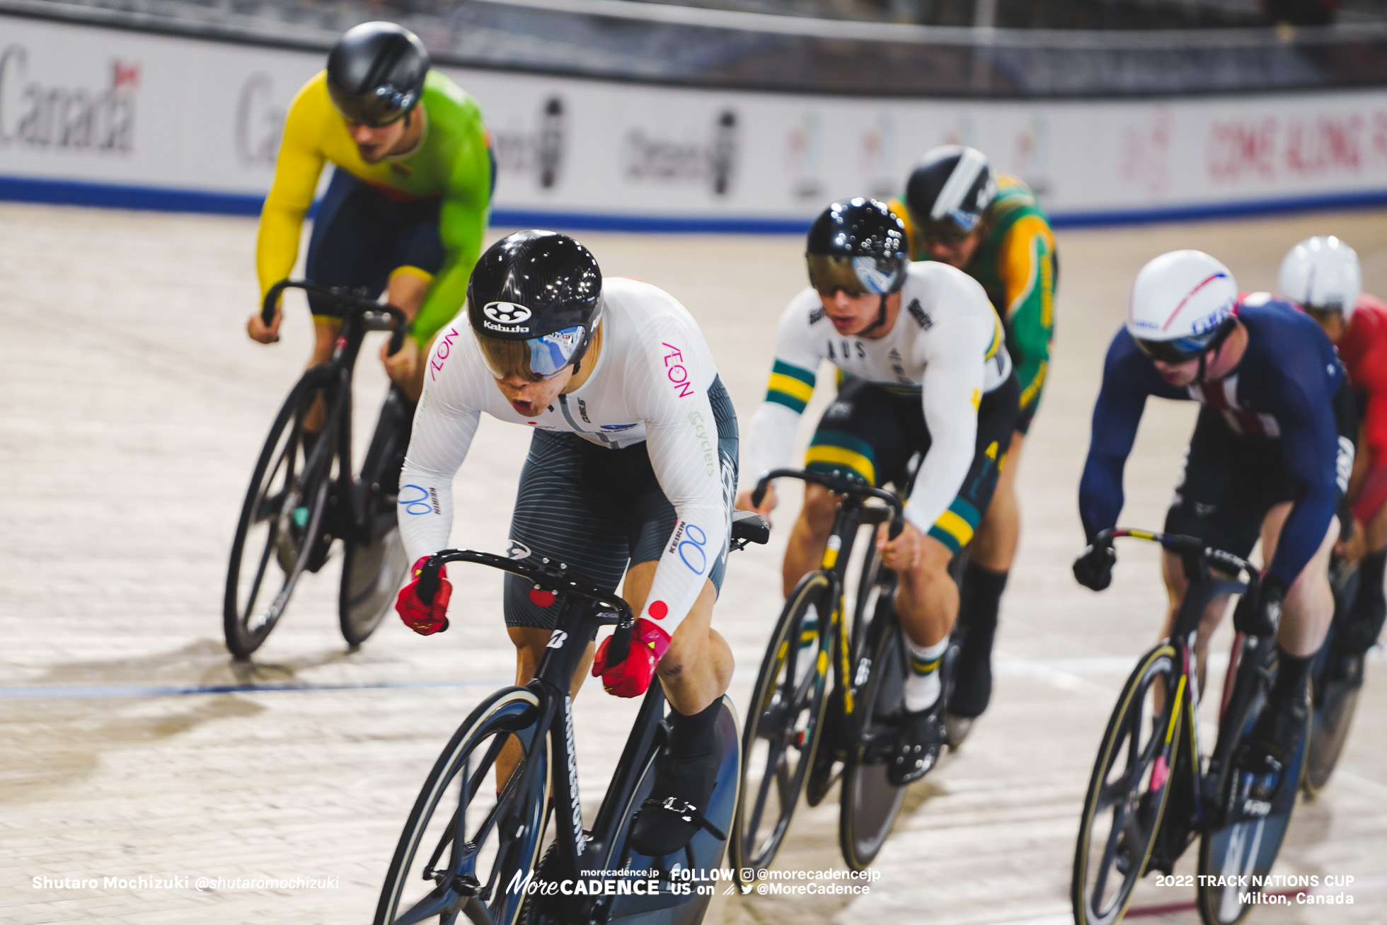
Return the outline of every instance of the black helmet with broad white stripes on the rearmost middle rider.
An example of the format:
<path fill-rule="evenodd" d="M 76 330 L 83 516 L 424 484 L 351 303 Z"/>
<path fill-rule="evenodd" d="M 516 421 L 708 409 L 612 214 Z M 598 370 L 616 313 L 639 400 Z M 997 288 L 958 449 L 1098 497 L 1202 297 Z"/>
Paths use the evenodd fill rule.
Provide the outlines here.
<path fill-rule="evenodd" d="M 906 209 L 925 240 L 967 237 L 996 196 L 986 155 L 958 144 L 927 151 L 906 180 Z"/>

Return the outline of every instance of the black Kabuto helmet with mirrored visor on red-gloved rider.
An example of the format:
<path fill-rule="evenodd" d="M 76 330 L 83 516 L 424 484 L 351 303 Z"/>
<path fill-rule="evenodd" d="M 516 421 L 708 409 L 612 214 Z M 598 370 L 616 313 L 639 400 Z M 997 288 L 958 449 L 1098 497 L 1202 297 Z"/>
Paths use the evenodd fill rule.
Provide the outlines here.
<path fill-rule="evenodd" d="M 583 359 L 599 320 L 602 270 L 567 234 L 503 237 L 467 282 L 467 322 L 497 379 L 552 379 Z"/>

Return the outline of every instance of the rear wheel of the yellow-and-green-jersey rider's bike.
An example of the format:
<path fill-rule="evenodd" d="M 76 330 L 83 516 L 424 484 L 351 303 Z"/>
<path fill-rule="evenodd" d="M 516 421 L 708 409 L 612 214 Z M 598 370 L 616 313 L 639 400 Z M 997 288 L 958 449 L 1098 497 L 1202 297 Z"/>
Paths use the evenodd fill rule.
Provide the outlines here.
<path fill-rule="evenodd" d="M 343 542 L 337 619 L 343 638 L 351 646 L 365 642 L 390 613 L 395 592 L 409 570 L 395 513 L 399 466 L 409 444 L 409 410 L 408 399 L 391 387 L 380 406 L 376 433 L 362 465 L 365 534 L 347 537 Z"/>

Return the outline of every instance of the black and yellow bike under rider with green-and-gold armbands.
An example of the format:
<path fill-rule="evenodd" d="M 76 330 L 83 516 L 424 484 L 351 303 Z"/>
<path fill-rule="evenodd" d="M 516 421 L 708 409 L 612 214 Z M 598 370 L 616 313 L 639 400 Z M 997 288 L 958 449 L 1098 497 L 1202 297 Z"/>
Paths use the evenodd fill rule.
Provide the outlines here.
<path fill-rule="evenodd" d="M 881 566 L 875 545 L 863 560 L 852 614 L 845 606 L 859 528 L 889 521 L 890 535 L 899 535 L 903 502 L 843 476 L 777 469 L 757 483 L 755 503 L 774 478 L 818 484 L 842 501 L 820 569 L 785 599 L 748 704 L 732 839 L 734 867 L 743 882 L 774 861 L 800 793 L 817 806 L 842 779 L 839 847 L 853 870 L 877 857 L 906 797 L 904 788 L 886 779 L 886 763 L 907 664 L 893 606 L 896 576 Z"/>

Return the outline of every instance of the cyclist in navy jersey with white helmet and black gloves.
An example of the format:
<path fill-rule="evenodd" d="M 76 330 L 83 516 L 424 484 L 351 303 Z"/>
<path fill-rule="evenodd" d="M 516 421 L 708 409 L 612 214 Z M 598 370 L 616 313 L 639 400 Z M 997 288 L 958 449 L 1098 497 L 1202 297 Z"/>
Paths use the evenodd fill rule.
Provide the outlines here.
<path fill-rule="evenodd" d="M 1333 616 L 1327 566 L 1352 467 L 1352 395 L 1334 345 L 1289 302 L 1239 297 L 1227 268 L 1200 251 L 1172 251 L 1142 268 L 1126 326 L 1108 348 L 1079 483 L 1090 545 L 1074 574 L 1094 591 L 1111 582 L 1115 553 L 1092 542 L 1122 510 L 1122 469 L 1147 395 L 1203 404 L 1166 533 L 1243 557 L 1262 541 L 1266 571 L 1258 599 L 1239 607 L 1237 628 L 1276 634 L 1277 670 L 1268 709 L 1234 759 L 1244 806 L 1257 811 L 1269 806 L 1305 732 L 1307 678 Z M 1179 556 L 1165 553 L 1162 571 L 1169 632 L 1186 588 Z M 1204 613 L 1201 663 L 1226 606 L 1223 595 Z"/>

